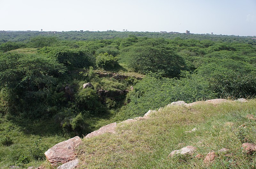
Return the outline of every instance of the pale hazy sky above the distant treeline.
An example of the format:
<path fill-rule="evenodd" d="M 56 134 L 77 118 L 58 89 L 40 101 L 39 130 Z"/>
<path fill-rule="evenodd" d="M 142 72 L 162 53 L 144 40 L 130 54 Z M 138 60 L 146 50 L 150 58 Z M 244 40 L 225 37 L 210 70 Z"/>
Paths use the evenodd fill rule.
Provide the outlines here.
<path fill-rule="evenodd" d="M 0 30 L 256 35 L 256 0 L 0 0 Z"/>

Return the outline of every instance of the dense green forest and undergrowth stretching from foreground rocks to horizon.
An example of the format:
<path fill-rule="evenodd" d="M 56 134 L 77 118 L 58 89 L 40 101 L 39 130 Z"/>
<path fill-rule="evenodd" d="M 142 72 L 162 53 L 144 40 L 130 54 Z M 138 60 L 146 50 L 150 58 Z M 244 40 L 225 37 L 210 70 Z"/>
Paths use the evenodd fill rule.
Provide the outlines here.
<path fill-rule="evenodd" d="M 0 165 L 173 101 L 254 98 L 255 64 L 252 37 L 1 31 Z"/>

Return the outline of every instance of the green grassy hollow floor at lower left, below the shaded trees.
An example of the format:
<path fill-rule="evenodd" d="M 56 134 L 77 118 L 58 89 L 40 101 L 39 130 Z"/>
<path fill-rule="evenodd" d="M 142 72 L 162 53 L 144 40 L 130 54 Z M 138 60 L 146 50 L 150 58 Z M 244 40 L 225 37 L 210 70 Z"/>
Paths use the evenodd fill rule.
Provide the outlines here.
<path fill-rule="evenodd" d="M 13 144 L 10 146 L 0 144 L 1 169 L 9 168 L 11 165 L 19 165 L 21 156 L 28 157 L 30 161 L 28 164 L 23 164 L 23 168 L 38 167 L 44 159 L 33 159 L 29 151 L 36 140 L 40 139 L 42 143 L 47 145 L 47 148 L 50 148 L 69 138 L 63 135 L 59 126 L 56 126 L 56 123 L 51 120 L 31 121 L 8 115 L 0 118 L 0 139 L 6 136 L 10 137 Z"/>

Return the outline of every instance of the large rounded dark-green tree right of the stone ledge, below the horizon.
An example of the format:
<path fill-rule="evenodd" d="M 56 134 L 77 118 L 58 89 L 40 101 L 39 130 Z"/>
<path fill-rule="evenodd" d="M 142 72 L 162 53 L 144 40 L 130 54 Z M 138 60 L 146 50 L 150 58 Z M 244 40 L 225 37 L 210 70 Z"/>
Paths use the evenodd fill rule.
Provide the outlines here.
<path fill-rule="evenodd" d="M 185 66 L 184 60 L 163 39 L 147 39 L 129 48 L 128 66 L 133 71 L 164 72 L 165 76 L 176 77 Z"/>

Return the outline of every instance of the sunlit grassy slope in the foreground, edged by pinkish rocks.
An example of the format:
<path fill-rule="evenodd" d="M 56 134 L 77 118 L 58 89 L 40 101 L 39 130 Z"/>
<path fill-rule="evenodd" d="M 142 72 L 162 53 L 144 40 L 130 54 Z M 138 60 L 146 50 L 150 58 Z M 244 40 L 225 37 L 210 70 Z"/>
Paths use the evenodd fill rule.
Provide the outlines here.
<path fill-rule="evenodd" d="M 245 155 L 241 149 L 244 142 L 256 143 L 256 121 L 247 119 L 248 114 L 256 115 L 255 100 L 164 108 L 148 120 L 119 124 L 117 134 L 83 139 L 80 168 L 256 168 L 255 154 Z M 241 124 L 247 127 L 239 128 Z M 185 132 L 195 127 L 195 132 Z M 213 150 L 218 158 L 209 166 L 196 154 L 168 158 L 187 145 L 197 147 L 196 154 Z M 218 152 L 223 147 L 233 157 Z"/>

